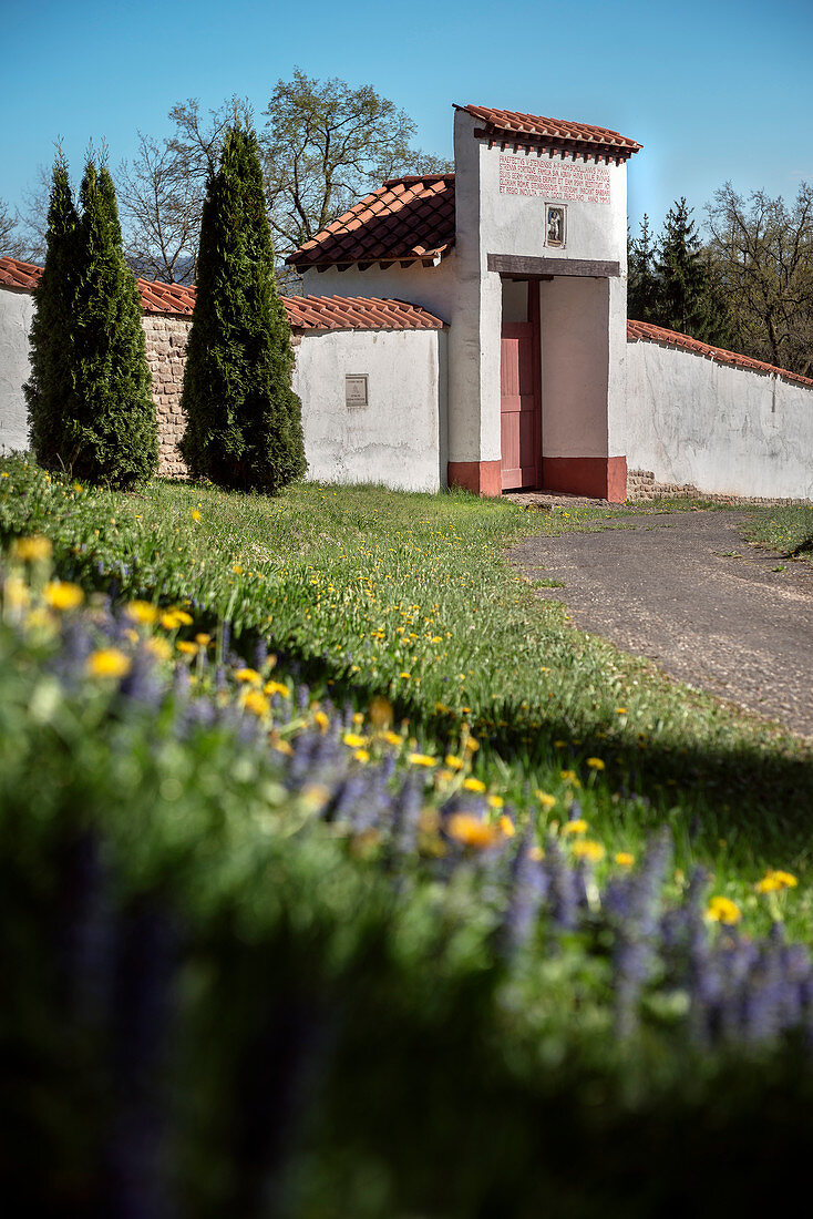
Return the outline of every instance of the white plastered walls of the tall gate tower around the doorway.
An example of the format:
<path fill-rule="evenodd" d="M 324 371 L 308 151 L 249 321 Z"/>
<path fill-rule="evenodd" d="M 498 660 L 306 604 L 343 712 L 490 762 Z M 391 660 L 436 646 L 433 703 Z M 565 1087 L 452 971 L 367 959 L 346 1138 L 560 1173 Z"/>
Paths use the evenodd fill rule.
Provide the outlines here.
<path fill-rule="evenodd" d="M 624 356 L 627 339 L 627 165 L 609 163 L 609 202 L 557 200 L 555 195 L 500 191 L 500 158 L 549 160 L 572 165 L 570 156 L 538 149 L 501 147 L 474 137 L 479 119 L 455 116 L 458 283 L 469 318 L 462 340 L 450 343 L 450 456 L 500 458 L 500 275 L 489 255 L 618 262 L 611 279 L 557 277 L 540 284 L 542 341 L 542 452 L 546 456 L 624 455 Z M 575 165 L 584 165 L 577 157 Z M 545 206 L 567 205 L 564 247 L 545 244 Z M 563 267 L 563 271 L 566 268 Z M 555 367 L 546 371 L 546 361 Z M 466 367 L 458 367 L 466 366 Z M 569 374 L 567 372 L 569 367 Z M 570 386 L 567 386 L 567 378 Z M 588 397 L 579 386 L 589 388 Z M 545 393 L 552 401 L 546 405 Z M 564 412 L 566 417 L 561 417 Z M 567 418 L 570 414 L 570 418 Z M 477 428 L 473 427 L 477 421 Z M 547 423 L 547 427 L 546 427 Z M 549 446 L 550 440 L 550 446 Z M 474 451 L 479 441 L 479 451 Z"/>

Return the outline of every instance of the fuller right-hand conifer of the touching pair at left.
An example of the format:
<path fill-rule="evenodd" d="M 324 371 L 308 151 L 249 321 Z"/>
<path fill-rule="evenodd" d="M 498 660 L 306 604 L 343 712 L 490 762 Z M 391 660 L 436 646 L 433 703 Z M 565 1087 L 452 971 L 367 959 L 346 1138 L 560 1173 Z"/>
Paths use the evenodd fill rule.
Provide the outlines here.
<path fill-rule="evenodd" d="M 78 478 L 129 488 L 149 478 L 158 460 L 141 301 L 124 261 L 116 190 L 104 166 L 96 171 L 88 161 L 79 200 L 80 272 L 63 460 Z"/>

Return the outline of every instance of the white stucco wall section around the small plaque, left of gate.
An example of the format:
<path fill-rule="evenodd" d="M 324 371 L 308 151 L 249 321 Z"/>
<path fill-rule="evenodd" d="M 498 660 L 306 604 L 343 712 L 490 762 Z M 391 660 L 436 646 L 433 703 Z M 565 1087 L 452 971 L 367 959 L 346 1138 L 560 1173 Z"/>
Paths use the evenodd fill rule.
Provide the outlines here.
<path fill-rule="evenodd" d="M 369 293 L 367 295 L 371 295 Z M 444 330 L 321 330 L 296 350 L 308 477 L 436 491 L 446 483 Z M 366 374 L 367 406 L 345 378 Z"/>

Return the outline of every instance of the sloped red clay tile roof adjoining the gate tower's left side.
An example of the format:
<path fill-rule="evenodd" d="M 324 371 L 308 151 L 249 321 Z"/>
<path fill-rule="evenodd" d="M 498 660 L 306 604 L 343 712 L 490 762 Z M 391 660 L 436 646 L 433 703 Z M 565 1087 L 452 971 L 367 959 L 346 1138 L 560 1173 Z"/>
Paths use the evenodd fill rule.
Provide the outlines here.
<path fill-rule="evenodd" d="M 295 250 L 295 267 L 423 262 L 455 244 L 455 174 L 391 178 Z"/>

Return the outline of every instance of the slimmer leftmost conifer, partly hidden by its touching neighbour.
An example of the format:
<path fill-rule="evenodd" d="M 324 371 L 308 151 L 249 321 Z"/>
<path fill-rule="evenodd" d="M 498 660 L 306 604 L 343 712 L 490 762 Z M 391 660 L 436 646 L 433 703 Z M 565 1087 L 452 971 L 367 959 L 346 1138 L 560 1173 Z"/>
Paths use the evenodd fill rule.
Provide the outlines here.
<path fill-rule="evenodd" d="M 37 311 L 30 329 L 30 377 L 24 386 L 32 447 L 37 461 L 46 469 L 61 469 L 66 464 L 62 421 L 65 403 L 73 391 L 78 240 L 79 217 L 60 151 L 51 182 L 45 266 L 34 289 Z"/>

